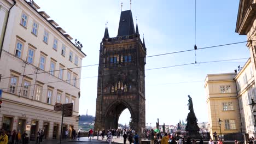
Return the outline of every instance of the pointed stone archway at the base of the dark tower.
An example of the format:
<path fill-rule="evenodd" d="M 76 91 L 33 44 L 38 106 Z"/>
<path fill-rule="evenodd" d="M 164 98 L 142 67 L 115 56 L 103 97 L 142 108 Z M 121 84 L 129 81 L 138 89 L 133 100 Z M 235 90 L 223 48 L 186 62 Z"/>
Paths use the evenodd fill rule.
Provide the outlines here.
<path fill-rule="evenodd" d="M 132 107 L 126 101 L 116 100 L 114 101 L 114 103 L 110 104 L 107 107 L 105 113 L 105 129 L 117 129 L 119 117 L 125 109 L 128 109 L 130 111 L 131 118 L 136 117 L 134 111 L 132 110 Z"/>

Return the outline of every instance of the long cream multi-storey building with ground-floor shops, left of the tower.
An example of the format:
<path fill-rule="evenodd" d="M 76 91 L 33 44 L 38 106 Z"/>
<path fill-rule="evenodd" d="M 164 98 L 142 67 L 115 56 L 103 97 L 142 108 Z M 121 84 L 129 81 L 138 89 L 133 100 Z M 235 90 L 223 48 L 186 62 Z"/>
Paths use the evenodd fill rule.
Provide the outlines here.
<path fill-rule="evenodd" d="M 78 130 L 81 68 L 76 67 L 86 55 L 71 40 L 36 3 L 16 0 L 0 59 L 1 128 L 26 131 L 31 139 L 43 129 L 46 139 L 58 139 L 62 115 L 54 105 L 73 103 L 63 129 Z"/>

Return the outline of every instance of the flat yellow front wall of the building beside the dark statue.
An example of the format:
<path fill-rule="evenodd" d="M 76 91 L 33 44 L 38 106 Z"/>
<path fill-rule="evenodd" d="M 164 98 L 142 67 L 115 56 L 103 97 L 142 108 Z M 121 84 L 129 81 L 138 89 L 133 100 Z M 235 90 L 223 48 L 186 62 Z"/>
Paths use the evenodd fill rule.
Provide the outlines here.
<path fill-rule="evenodd" d="M 236 73 L 209 74 L 205 79 L 206 103 L 208 106 L 209 132 L 220 135 L 237 133 L 240 130 L 240 113 L 237 101 Z M 219 118 L 223 121 L 219 128 Z"/>

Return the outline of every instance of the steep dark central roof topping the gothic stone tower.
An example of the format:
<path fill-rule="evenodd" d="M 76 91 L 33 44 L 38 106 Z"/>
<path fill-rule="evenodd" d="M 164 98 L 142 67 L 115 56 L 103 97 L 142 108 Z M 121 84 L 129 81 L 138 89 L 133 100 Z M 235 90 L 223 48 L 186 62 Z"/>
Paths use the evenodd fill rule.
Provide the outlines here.
<path fill-rule="evenodd" d="M 121 12 L 117 37 L 135 34 L 131 10 Z"/>

